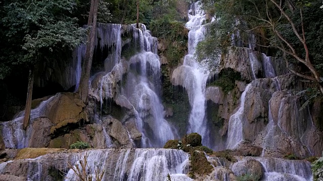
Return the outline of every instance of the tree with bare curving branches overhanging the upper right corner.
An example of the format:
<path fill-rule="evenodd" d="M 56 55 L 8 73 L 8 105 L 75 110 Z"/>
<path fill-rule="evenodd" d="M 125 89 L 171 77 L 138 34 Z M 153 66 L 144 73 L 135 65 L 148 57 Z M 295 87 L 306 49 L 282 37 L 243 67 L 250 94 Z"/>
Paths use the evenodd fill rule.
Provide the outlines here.
<path fill-rule="evenodd" d="M 211 1 L 206 2 L 207 5 L 211 3 Z M 312 32 L 306 31 L 309 30 L 309 27 L 305 24 L 312 20 L 304 21 L 303 14 L 304 11 L 310 11 L 311 8 L 317 7 L 312 6 L 316 3 L 315 1 L 303 0 L 219 0 L 213 6 L 206 8 L 209 8 L 209 12 L 212 10 L 217 16 L 220 15 L 220 21 L 230 20 L 230 25 L 235 25 L 233 29 L 239 31 L 240 34 L 244 33 L 246 37 L 250 33 L 258 35 L 256 43 L 258 47 L 274 48 L 278 53 L 283 54 L 290 71 L 299 77 L 314 82 L 320 93 L 323 94 L 323 80 L 317 66 L 315 67 L 315 64 L 313 64 L 318 60 L 312 59 L 315 49 L 312 48 L 313 45 L 308 44 L 308 38 L 306 38 Z M 318 15 L 319 10 L 315 13 Z M 305 16 L 310 15 L 306 14 Z M 221 35 L 220 37 L 227 36 L 230 38 L 228 35 Z M 221 41 L 220 44 L 223 45 L 225 41 L 228 41 L 228 38 L 224 38 L 224 41 Z M 312 40 L 309 41 L 313 42 Z M 228 46 L 230 44 L 227 44 Z M 201 50 L 197 55 L 203 55 L 204 52 Z M 290 66 L 298 63 L 305 65 L 308 71 Z"/>

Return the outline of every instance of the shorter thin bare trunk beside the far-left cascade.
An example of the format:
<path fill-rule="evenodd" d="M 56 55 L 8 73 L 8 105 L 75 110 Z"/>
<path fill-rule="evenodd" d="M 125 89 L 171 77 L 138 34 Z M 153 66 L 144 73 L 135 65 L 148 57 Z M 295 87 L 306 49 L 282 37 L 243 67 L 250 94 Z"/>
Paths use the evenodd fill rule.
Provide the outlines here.
<path fill-rule="evenodd" d="M 32 69 L 29 69 L 28 91 L 27 91 L 27 99 L 26 99 L 26 107 L 25 107 L 25 116 L 24 116 L 24 122 L 23 122 L 24 129 L 26 129 L 27 126 L 29 125 L 33 84 L 34 84 L 34 72 Z"/>

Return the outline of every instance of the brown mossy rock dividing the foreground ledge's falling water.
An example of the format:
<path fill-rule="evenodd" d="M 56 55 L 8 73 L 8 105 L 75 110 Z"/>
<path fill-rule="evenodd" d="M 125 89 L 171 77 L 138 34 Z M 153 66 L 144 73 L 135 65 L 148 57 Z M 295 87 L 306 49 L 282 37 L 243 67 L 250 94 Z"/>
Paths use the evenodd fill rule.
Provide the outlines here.
<path fill-rule="evenodd" d="M 190 173 L 189 176 L 194 178 L 196 174 L 207 175 L 212 172 L 213 167 L 207 161 L 203 152 L 191 151 L 190 152 Z"/>

